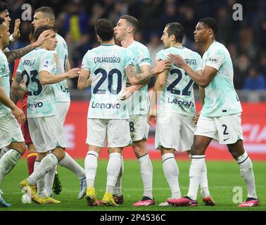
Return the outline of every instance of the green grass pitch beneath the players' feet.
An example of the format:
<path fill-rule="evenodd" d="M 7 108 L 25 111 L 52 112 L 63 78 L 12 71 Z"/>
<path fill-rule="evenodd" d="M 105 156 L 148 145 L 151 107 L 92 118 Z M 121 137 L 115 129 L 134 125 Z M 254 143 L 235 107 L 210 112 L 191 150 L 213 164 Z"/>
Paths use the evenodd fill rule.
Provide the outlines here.
<path fill-rule="evenodd" d="M 84 160 L 78 160 L 80 165 L 84 166 Z M 21 180 L 27 177 L 27 162 L 20 160 L 15 168 L 4 179 L 1 184 L 1 189 L 4 191 L 4 199 L 11 203 L 12 207 L 2 208 L 0 211 L 11 210 L 266 210 L 266 162 L 253 162 L 255 173 L 255 184 L 258 197 L 260 198 L 260 206 L 248 209 L 240 209 L 236 207 L 237 203 L 233 200 L 239 200 L 243 190 L 243 200 L 246 199 L 246 186 L 241 179 L 239 167 L 235 162 L 207 162 L 208 181 L 210 193 L 216 202 L 214 207 L 206 207 L 203 205 L 201 196 L 198 195 L 198 207 L 160 207 L 159 203 L 164 202 L 170 197 L 170 189 L 163 175 L 163 167 L 161 160 L 153 160 L 153 196 L 156 200 L 156 205 L 150 207 L 132 207 L 132 204 L 140 200 L 142 196 L 142 183 L 139 172 L 139 164 L 137 160 L 125 160 L 125 173 L 122 179 L 122 192 L 125 198 L 123 205 L 119 207 L 87 207 L 84 199 L 78 200 L 77 195 L 80 191 L 80 181 L 77 177 L 63 167 L 59 167 L 59 178 L 63 186 L 63 191 L 60 195 L 53 195 L 53 198 L 60 200 L 59 205 L 37 205 L 21 203 L 22 193 L 18 188 Z M 96 174 L 96 193 L 97 198 L 101 199 L 106 188 L 106 160 L 99 160 L 98 172 Z M 182 195 L 185 195 L 189 187 L 189 161 L 178 162 L 179 165 L 179 185 Z M 235 192 L 234 191 L 234 188 Z M 241 198 L 241 197 L 240 197 Z"/>

